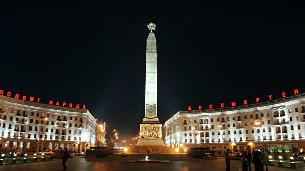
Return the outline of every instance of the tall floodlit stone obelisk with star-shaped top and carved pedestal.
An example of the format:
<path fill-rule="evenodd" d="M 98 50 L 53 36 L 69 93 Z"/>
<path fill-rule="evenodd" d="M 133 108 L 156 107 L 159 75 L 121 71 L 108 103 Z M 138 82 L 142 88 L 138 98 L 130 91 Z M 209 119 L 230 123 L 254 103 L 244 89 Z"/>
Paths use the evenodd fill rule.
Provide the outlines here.
<path fill-rule="evenodd" d="M 162 124 L 157 116 L 157 44 L 153 33 L 156 25 L 147 26 L 150 33 L 146 41 L 145 114 L 137 146 L 164 146 Z"/>

